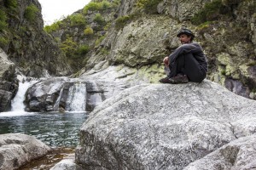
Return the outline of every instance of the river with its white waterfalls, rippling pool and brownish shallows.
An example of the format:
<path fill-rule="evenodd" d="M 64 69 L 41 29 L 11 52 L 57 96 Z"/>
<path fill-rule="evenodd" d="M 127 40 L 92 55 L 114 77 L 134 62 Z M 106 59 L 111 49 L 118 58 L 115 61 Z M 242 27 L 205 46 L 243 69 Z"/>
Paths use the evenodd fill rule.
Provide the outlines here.
<path fill-rule="evenodd" d="M 84 98 L 84 96 L 80 96 L 85 93 L 83 89 L 75 90 L 76 93 L 70 99 L 71 109 L 65 113 L 24 111 L 23 101 L 26 90 L 36 82 L 38 81 L 20 81 L 19 90 L 15 99 L 12 100 L 12 111 L 0 112 L 0 134 L 26 133 L 54 149 L 49 155 L 32 161 L 20 168 L 21 170 L 49 170 L 56 162 L 73 154 L 75 147 L 79 144 L 79 129 L 89 114 L 84 111 L 85 106 L 81 105 L 78 100 Z"/>

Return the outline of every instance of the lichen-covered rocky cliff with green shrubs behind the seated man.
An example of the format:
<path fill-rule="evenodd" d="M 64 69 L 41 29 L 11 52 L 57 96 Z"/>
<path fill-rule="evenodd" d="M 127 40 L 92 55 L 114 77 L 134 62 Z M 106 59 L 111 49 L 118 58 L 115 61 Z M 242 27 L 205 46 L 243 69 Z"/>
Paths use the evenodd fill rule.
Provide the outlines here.
<path fill-rule="evenodd" d="M 188 27 L 195 31 L 195 41 L 201 43 L 207 54 L 210 69 L 207 78 L 236 94 L 255 99 L 255 0 L 193 3 L 122 0 L 117 8 L 108 9 L 111 11 L 108 14 L 102 8 L 92 8 L 101 2 L 107 1 L 92 1 L 84 7 L 86 13 L 84 9 L 78 11 L 88 21 L 84 28 L 67 27 L 67 21 L 62 20 L 58 29 L 51 31 L 60 43 L 69 34 L 78 46 L 90 47 L 83 55 L 84 70 L 76 76 L 90 71 L 101 61 L 138 70 L 148 66 L 161 73 L 162 59 L 179 45 L 177 31 Z M 97 14 L 108 23 L 104 30 L 97 30 L 98 23 L 94 20 Z M 90 37 L 84 33 L 86 26 L 94 31 Z M 152 65 L 158 65 L 157 69 Z"/>

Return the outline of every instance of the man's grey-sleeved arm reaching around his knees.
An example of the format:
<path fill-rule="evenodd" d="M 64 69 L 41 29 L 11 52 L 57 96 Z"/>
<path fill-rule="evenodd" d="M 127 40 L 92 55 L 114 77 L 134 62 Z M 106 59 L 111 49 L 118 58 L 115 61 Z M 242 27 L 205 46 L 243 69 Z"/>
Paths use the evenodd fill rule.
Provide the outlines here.
<path fill-rule="evenodd" d="M 201 52 L 202 48 L 197 42 L 183 44 L 169 55 L 169 63 L 171 64 L 180 54 L 197 54 Z"/>

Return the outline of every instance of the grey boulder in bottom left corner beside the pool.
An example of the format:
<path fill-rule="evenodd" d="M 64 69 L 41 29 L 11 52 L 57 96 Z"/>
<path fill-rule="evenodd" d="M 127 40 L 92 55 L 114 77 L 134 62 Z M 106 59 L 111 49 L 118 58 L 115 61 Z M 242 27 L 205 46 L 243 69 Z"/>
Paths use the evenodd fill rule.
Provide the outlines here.
<path fill-rule="evenodd" d="M 0 169 L 18 169 L 49 150 L 49 146 L 26 134 L 0 134 Z"/>

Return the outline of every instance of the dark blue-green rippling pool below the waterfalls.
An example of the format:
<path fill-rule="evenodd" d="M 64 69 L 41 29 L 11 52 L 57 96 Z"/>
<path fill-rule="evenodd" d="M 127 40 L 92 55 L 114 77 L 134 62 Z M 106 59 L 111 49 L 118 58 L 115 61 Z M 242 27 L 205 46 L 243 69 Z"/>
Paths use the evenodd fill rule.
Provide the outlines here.
<path fill-rule="evenodd" d="M 1 116 L 0 134 L 26 133 L 51 147 L 72 147 L 79 144 L 79 129 L 86 112 L 35 113 L 24 116 Z"/>

